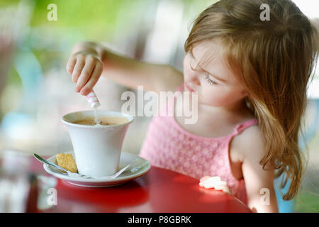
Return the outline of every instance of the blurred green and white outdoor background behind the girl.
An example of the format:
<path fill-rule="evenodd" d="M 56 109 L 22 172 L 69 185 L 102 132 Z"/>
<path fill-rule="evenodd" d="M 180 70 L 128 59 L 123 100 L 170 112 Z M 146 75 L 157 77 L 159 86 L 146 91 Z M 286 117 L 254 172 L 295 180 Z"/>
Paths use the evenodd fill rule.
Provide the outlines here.
<path fill-rule="evenodd" d="M 42 155 L 72 149 L 60 118 L 71 111 L 90 109 L 86 100 L 74 92 L 65 70 L 75 43 L 96 41 L 119 54 L 182 70 L 184 42 L 191 22 L 214 2 L 1 0 L 0 149 Z M 52 10 L 47 9 L 49 4 L 57 6 L 57 21 L 47 18 Z M 304 10 L 308 12 L 309 8 Z M 319 17 L 319 13 L 313 15 Z M 293 203 L 296 212 L 319 211 L 318 79 L 313 84 L 314 95 L 306 114 L 312 126 L 308 131 L 310 162 L 301 194 Z M 103 109 L 120 111 L 121 94 L 128 88 L 103 78 L 95 90 Z M 137 118 L 125 137 L 123 150 L 139 153 L 150 119 Z M 135 130 L 140 133 L 136 135 Z"/>

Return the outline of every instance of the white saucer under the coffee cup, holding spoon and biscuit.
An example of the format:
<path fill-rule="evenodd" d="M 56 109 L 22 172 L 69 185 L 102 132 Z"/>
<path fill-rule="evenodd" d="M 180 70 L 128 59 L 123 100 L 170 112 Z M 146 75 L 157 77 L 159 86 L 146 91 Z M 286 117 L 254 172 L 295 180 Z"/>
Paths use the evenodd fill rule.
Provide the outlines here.
<path fill-rule="evenodd" d="M 74 157 L 74 152 L 69 151 L 66 154 L 71 153 Z M 48 161 L 57 165 L 55 155 L 49 157 Z M 136 177 L 145 175 L 150 170 L 150 162 L 138 155 L 132 153 L 121 153 L 120 169 L 126 165 L 131 164 L 128 170 L 125 170 L 120 176 L 115 179 L 86 179 L 79 177 L 70 177 L 69 175 L 63 175 L 59 170 L 55 170 L 47 164 L 43 164 L 43 167 L 47 173 L 60 179 L 65 179 L 69 184 L 74 184 L 81 187 L 113 187 L 116 185 L 124 184 Z"/>

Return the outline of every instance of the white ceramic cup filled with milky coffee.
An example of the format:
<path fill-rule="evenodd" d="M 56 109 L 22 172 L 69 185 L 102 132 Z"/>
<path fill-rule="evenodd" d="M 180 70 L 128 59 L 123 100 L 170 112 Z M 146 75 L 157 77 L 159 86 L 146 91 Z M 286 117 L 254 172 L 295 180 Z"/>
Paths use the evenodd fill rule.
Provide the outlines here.
<path fill-rule="evenodd" d="M 73 122 L 94 117 L 94 111 L 79 111 L 62 117 L 69 131 L 79 174 L 89 177 L 113 175 L 118 171 L 123 140 L 135 119 L 116 111 L 97 111 L 98 116 L 125 117 L 127 122 L 110 126 L 84 126 Z"/>

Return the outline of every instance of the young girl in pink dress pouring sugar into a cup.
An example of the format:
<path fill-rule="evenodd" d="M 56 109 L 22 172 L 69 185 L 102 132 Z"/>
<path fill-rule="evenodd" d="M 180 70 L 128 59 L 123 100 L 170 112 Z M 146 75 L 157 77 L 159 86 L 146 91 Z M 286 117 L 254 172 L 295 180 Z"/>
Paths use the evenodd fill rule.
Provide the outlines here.
<path fill-rule="evenodd" d="M 261 19 L 262 4 L 269 6 L 269 21 Z M 318 31 L 290 0 L 221 0 L 194 22 L 183 74 L 96 43 L 75 45 L 67 71 L 83 95 L 102 71 L 133 89 L 198 92 L 198 121 L 155 116 L 140 156 L 201 179 L 203 187 L 230 191 L 252 211 L 276 212 L 274 177 L 285 175 L 283 187 L 291 180 L 285 200 L 301 185 L 305 163 L 298 132 L 317 42 Z M 167 108 L 177 113 L 183 106 Z"/>

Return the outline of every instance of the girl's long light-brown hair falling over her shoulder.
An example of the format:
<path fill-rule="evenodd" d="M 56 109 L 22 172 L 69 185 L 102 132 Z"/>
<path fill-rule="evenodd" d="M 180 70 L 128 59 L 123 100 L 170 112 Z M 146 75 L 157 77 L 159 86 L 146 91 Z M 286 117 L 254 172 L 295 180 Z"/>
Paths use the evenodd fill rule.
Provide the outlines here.
<path fill-rule="evenodd" d="M 269 21 L 260 14 L 269 5 Z M 248 92 L 247 106 L 259 121 L 266 140 L 260 164 L 271 163 L 289 191 L 283 199 L 298 194 L 306 170 L 299 148 L 299 131 L 307 105 L 307 85 L 318 58 L 318 31 L 290 0 L 221 0 L 194 21 L 185 43 L 218 38 L 225 60 Z"/>

